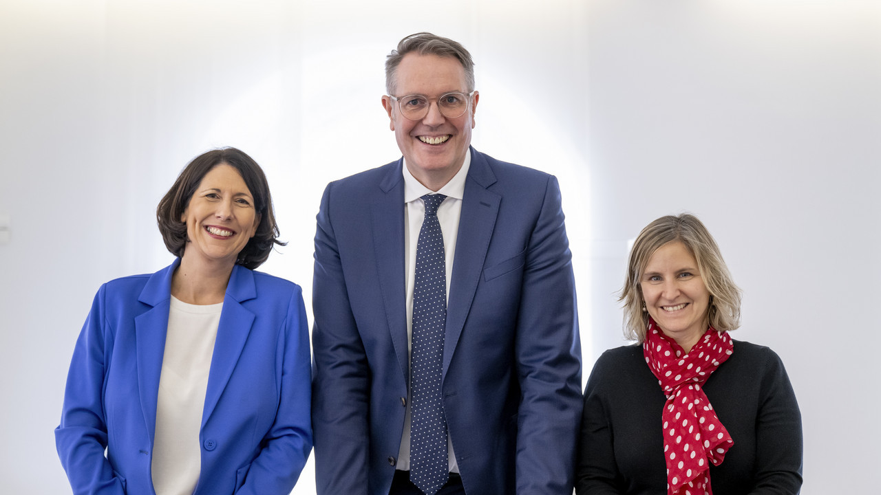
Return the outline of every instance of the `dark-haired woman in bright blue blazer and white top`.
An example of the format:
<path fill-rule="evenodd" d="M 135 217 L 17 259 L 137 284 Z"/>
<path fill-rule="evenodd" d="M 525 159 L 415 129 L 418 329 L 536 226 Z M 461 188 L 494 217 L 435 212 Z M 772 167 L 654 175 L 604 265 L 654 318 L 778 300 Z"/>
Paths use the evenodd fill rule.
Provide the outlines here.
<path fill-rule="evenodd" d="M 56 429 L 70 486 L 287 494 L 312 448 L 309 341 L 300 287 L 253 271 L 280 244 L 263 171 L 208 151 L 157 218 L 178 259 L 101 286 L 74 349 Z"/>

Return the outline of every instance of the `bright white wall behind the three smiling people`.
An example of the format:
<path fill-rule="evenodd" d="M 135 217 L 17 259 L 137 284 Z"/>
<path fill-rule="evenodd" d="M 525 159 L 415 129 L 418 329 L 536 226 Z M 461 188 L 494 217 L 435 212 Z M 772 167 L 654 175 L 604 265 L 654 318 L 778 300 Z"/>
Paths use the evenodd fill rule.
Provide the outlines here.
<path fill-rule="evenodd" d="M 234 145 L 263 166 L 289 242 L 263 270 L 308 296 L 322 188 L 399 156 L 382 63 L 422 30 L 478 63 L 478 149 L 560 178 L 585 376 L 624 344 L 627 240 L 691 211 L 744 289 L 735 337 L 796 388 L 803 493 L 873 491 L 876 2 L 0 0 L 3 491 L 69 492 L 70 352 L 101 283 L 171 261 L 154 211 L 189 159 Z"/>

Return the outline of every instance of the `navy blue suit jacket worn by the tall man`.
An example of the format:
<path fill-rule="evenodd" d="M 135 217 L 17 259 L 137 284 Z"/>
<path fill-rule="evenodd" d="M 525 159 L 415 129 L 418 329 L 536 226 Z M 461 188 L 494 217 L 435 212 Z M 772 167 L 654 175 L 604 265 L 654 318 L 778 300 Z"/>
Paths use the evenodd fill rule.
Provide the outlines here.
<path fill-rule="evenodd" d="M 410 400 L 402 160 L 329 184 L 315 233 L 318 493 L 389 493 Z M 551 175 L 471 149 L 443 353 L 465 491 L 571 495 L 574 277 Z"/>

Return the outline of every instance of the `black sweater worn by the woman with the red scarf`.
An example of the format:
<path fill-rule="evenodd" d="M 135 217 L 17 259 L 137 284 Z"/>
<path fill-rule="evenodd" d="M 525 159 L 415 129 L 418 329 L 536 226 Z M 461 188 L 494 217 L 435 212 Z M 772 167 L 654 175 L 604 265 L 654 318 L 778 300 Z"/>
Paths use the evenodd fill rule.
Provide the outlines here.
<path fill-rule="evenodd" d="M 710 466 L 714 495 L 796 494 L 802 486 L 802 418 L 783 363 L 767 347 L 734 341 L 704 392 L 734 445 Z M 641 345 L 605 351 L 584 391 L 578 495 L 663 495 L 661 412 L 666 397 Z"/>

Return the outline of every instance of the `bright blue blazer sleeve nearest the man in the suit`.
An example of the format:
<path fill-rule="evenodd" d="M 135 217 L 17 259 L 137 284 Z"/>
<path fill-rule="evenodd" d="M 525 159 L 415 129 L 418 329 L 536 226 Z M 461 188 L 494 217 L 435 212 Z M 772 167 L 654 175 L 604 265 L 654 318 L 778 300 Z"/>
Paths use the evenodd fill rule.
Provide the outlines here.
<path fill-rule="evenodd" d="M 292 293 L 285 329 L 279 332 L 281 367 L 278 412 L 236 495 L 287 495 L 312 450 L 311 367 L 306 307 L 300 288 Z"/>

